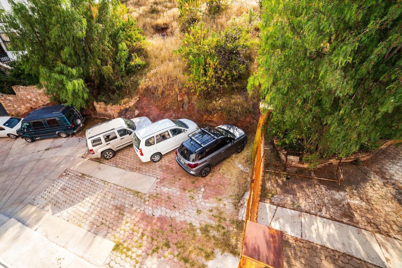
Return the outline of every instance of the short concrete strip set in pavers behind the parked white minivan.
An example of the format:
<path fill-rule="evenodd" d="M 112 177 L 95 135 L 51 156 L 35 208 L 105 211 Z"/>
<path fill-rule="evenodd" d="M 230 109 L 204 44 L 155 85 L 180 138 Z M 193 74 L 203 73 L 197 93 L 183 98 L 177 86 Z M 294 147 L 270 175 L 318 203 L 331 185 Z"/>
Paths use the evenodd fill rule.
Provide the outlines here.
<path fill-rule="evenodd" d="M 77 159 L 68 168 L 144 194 L 148 194 L 156 181 L 156 177 L 100 164 L 83 158 Z"/>

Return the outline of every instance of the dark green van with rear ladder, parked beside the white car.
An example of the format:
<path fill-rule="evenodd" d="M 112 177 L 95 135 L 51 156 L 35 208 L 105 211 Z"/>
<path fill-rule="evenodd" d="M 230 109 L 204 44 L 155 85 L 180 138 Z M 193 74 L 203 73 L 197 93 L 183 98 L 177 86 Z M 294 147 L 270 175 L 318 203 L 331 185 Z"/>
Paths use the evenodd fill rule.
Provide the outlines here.
<path fill-rule="evenodd" d="M 17 134 L 27 142 L 57 136 L 67 138 L 80 130 L 84 121 L 85 117 L 74 106 L 45 106 L 28 113 Z"/>

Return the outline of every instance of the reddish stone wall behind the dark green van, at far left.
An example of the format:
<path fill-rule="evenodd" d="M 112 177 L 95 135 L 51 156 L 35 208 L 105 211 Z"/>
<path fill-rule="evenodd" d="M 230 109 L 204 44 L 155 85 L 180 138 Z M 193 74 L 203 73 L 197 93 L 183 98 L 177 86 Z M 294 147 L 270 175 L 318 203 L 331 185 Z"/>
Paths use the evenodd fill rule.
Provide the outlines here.
<path fill-rule="evenodd" d="M 15 95 L 0 94 L 0 103 L 9 115 L 19 116 L 50 102 L 36 86 L 13 86 Z"/>

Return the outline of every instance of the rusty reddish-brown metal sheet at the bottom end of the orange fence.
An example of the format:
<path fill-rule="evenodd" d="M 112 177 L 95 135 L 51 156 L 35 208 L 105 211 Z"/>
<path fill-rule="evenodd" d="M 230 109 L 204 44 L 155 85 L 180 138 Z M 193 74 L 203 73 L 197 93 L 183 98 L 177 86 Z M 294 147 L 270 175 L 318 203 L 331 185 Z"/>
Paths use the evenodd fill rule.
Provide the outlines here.
<path fill-rule="evenodd" d="M 282 232 L 247 221 L 242 255 L 275 268 L 283 268 Z"/>

